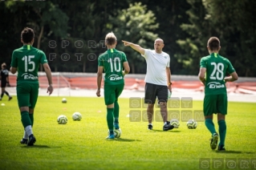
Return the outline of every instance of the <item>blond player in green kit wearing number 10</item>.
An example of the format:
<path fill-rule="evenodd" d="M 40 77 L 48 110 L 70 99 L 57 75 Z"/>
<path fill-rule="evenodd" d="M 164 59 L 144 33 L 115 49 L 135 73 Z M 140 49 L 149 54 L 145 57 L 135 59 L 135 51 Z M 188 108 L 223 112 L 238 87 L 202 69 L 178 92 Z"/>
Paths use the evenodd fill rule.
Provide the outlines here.
<path fill-rule="evenodd" d="M 107 123 L 109 136 L 107 139 L 115 139 L 115 129 L 119 126 L 119 104 L 118 97 L 124 90 L 124 75 L 128 74 L 130 67 L 126 55 L 122 51 L 116 50 L 116 36 L 108 33 L 105 38 L 105 45 L 108 51 L 105 51 L 98 59 L 97 86 L 96 95 L 100 97 L 100 87 L 103 72 L 104 75 L 104 101 L 107 105 Z M 124 70 L 124 71 L 123 71 Z"/>

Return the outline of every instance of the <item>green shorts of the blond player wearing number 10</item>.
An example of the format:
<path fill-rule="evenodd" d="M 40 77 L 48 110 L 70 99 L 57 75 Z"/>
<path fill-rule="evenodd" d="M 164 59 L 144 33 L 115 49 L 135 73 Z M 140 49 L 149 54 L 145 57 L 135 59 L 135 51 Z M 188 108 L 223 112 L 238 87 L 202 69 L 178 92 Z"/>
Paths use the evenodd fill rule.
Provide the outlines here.
<path fill-rule="evenodd" d="M 124 90 L 124 84 L 117 85 L 104 85 L 104 100 L 105 104 L 109 105 L 115 103 L 118 97 L 121 95 Z"/>

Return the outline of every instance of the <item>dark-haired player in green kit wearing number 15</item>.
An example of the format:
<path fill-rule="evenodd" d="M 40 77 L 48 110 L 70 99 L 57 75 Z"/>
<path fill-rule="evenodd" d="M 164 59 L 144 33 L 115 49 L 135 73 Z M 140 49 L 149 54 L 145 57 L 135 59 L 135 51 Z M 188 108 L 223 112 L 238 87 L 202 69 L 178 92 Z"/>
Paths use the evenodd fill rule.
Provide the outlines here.
<path fill-rule="evenodd" d="M 20 141 L 21 144 L 32 146 L 35 143 L 32 126 L 34 123 L 34 109 L 39 95 L 39 64 L 43 65 L 47 74 L 49 86 L 47 92 L 51 95 L 53 91 L 51 81 L 51 69 L 47 63 L 46 55 L 43 51 L 32 47 L 34 43 L 35 33 L 31 28 L 24 28 L 21 34 L 21 42 L 23 47 L 13 51 L 11 59 L 11 73 L 17 76 L 17 98 L 18 107 L 21 112 L 22 125 L 25 129 L 24 136 Z"/>

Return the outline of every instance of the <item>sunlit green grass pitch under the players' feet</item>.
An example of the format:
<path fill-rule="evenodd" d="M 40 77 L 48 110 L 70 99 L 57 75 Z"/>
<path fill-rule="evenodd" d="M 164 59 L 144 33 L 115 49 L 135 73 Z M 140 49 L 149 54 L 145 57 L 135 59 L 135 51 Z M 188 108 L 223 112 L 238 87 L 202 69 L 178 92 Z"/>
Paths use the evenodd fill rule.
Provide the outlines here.
<path fill-rule="evenodd" d="M 52 96 L 38 99 L 33 127 L 37 141 L 27 147 L 19 143 L 23 127 L 17 99 L 5 99 L 0 102 L 5 103 L 0 106 L 0 169 L 225 169 L 230 160 L 237 169 L 241 160 L 255 168 L 255 103 L 229 103 L 227 151 L 217 152 L 209 148 L 210 134 L 203 122 L 193 130 L 180 122 L 168 132 L 162 131 L 162 122 L 153 122 L 152 131 L 146 121 L 131 122 L 129 99 L 120 99 L 120 139 L 105 140 L 104 98 L 67 97 L 67 103 L 61 103 L 62 97 Z M 193 101 L 194 110 L 201 107 L 201 101 Z M 71 119 L 75 111 L 83 115 L 81 121 Z M 67 115 L 65 125 L 56 121 L 61 114 Z M 216 117 L 214 123 L 217 128 Z M 214 168 L 214 159 L 223 164 Z"/>

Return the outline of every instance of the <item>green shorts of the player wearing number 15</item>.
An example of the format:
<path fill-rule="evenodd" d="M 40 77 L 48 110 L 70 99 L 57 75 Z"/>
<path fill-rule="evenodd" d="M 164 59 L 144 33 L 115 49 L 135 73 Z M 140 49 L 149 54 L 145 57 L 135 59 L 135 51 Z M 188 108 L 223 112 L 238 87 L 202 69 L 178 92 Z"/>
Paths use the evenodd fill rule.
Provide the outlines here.
<path fill-rule="evenodd" d="M 39 96 L 39 83 L 18 83 L 16 91 L 18 107 L 35 108 Z"/>

